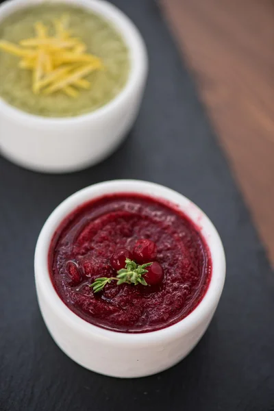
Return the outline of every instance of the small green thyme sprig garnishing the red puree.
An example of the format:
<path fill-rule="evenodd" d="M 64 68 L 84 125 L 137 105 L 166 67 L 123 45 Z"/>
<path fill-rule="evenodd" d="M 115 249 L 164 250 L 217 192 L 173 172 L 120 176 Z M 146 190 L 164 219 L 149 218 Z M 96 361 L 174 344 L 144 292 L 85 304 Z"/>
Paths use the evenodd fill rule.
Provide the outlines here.
<path fill-rule="evenodd" d="M 93 292 L 99 292 L 103 290 L 106 284 L 110 284 L 112 281 L 117 282 L 117 286 L 120 286 L 123 283 L 142 284 L 147 286 L 147 282 L 142 275 L 147 273 L 146 268 L 151 266 L 152 262 L 147 262 L 146 264 L 136 264 L 135 261 L 130 260 L 129 258 L 125 259 L 125 269 L 117 271 L 116 277 L 99 277 L 95 279 L 95 282 L 90 284 L 90 287 L 93 289 Z"/>

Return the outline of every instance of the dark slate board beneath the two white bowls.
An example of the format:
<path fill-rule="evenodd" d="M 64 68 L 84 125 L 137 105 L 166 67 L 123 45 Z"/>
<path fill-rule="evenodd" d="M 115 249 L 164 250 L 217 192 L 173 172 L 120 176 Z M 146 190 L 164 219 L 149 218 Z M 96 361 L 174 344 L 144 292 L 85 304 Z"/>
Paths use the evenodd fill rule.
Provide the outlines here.
<path fill-rule="evenodd" d="M 111 158 L 71 175 L 42 175 L 0 159 L 2 411 L 271 411 L 273 273 L 249 212 L 152 0 L 114 1 L 139 27 L 150 75 L 138 121 Z M 183 362 L 121 380 L 86 371 L 53 343 L 34 289 L 36 238 L 71 193 L 113 178 L 147 179 L 195 201 L 223 238 L 227 281 L 208 332 Z"/>

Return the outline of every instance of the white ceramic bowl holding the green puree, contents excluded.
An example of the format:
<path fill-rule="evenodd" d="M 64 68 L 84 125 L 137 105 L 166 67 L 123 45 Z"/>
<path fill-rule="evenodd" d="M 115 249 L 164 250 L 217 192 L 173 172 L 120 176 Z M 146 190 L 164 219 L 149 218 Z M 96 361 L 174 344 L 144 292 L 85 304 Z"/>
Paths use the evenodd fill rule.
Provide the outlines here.
<path fill-rule="evenodd" d="M 42 1 L 6 1 L 0 5 L 0 21 L 16 10 Z M 60 1 L 87 8 L 109 20 L 129 48 L 131 69 L 119 95 L 102 108 L 82 116 L 35 116 L 0 99 L 1 153 L 27 169 L 52 173 L 83 169 L 103 160 L 118 147 L 138 114 L 148 65 L 145 44 L 138 30 L 114 5 L 103 0 Z"/>

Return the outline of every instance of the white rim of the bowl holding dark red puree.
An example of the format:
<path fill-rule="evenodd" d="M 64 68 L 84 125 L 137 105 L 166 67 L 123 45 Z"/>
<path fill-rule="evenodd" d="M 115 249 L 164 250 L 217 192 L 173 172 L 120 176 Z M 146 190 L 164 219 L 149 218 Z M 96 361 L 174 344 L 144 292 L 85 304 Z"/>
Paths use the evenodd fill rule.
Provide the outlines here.
<path fill-rule="evenodd" d="M 101 328 L 88 323 L 71 311 L 59 297 L 51 282 L 48 269 L 48 253 L 51 238 L 55 230 L 64 218 L 78 206 L 81 206 L 86 201 L 115 192 L 144 193 L 156 200 L 164 199 L 173 203 L 179 207 L 195 225 L 198 225 L 201 229 L 201 235 L 208 244 L 212 258 L 212 276 L 208 290 L 198 306 L 190 312 L 188 316 L 173 325 L 156 331 L 136 334 L 116 332 Z M 221 238 L 208 216 L 206 216 L 195 203 L 192 203 L 192 201 L 184 197 L 184 195 L 160 184 L 134 179 L 120 179 L 92 184 L 91 186 L 83 188 L 66 198 L 53 210 L 38 237 L 34 256 L 34 271 L 36 290 L 39 289 L 39 291 L 43 293 L 43 296 L 47 299 L 47 303 L 51 306 L 53 312 L 58 315 L 59 319 L 75 329 L 80 335 L 84 334 L 90 338 L 103 338 L 104 340 L 110 340 L 112 345 L 119 346 L 155 345 L 160 341 L 186 335 L 192 329 L 198 327 L 199 324 L 210 321 L 212 312 L 216 309 L 221 297 L 225 282 L 225 252 Z"/>

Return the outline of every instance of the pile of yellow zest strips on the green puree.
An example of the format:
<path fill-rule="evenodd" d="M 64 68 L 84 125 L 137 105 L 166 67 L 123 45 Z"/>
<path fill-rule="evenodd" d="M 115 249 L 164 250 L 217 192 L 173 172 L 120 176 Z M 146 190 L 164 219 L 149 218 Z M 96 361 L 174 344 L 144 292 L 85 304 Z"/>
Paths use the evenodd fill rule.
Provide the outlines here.
<path fill-rule="evenodd" d="M 19 45 L 0 40 L 0 50 L 21 58 L 20 69 L 32 71 L 35 94 L 62 91 L 69 97 L 77 97 L 77 88 L 87 90 L 91 85 L 83 77 L 103 69 L 103 62 L 96 55 L 86 53 L 86 45 L 79 38 L 71 37 L 67 14 L 54 20 L 53 27 L 55 36 L 50 37 L 49 27 L 38 21 L 34 25 L 36 37 L 23 39 Z"/>

